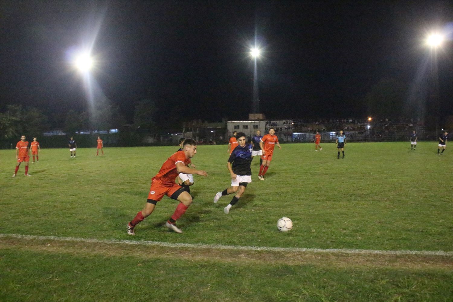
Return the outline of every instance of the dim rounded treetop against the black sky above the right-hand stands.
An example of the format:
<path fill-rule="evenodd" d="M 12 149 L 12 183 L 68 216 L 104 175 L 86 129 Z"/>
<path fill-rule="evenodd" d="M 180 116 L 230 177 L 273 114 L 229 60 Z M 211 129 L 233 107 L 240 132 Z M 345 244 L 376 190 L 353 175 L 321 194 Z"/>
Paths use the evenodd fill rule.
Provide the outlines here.
<path fill-rule="evenodd" d="M 365 97 L 368 112 L 377 117 L 401 116 L 407 92 L 405 84 L 392 78 L 383 78 Z"/>

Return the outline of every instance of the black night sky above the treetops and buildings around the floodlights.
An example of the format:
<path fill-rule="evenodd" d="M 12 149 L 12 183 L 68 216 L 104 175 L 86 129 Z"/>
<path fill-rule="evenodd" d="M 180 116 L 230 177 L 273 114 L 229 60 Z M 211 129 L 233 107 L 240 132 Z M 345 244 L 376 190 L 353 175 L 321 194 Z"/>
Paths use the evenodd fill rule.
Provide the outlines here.
<path fill-rule="evenodd" d="M 129 122 L 141 99 L 173 120 L 245 119 L 256 33 L 260 111 L 331 118 L 366 116 L 363 99 L 381 78 L 412 85 L 429 53 L 425 34 L 453 22 L 453 4 L 2 1 L 0 16 L 0 110 L 86 110 L 67 54 L 96 37 L 94 78 Z M 438 58 L 443 114 L 453 114 L 452 47 Z"/>

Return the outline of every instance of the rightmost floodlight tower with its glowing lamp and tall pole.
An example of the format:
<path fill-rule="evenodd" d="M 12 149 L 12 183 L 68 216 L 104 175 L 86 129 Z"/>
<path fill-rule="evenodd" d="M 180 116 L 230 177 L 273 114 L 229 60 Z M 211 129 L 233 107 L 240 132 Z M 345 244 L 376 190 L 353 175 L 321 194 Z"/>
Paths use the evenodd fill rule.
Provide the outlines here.
<path fill-rule="evenodd" d="M 426 44 L 430 49 L 431 57 L 431 75 L 433 79 L 433 92 L 431 93 L 431 98 L 434 102 L 434 107 L 436 110 L 436 134 L 438 133 L 439 128 L 439 69 L 437 64 L 437 50 L 442 46 L 444 37 L 442 34 L 433 33 L 426 38 Z"/>

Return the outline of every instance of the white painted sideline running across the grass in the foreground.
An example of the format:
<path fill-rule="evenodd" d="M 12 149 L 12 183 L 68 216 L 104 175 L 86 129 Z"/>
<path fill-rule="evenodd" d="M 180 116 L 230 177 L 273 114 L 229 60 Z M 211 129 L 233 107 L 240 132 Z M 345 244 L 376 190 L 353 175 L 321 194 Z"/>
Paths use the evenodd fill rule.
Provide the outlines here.
<path fill-rule="evenodd" d="M 381 254 L 381 255 L 422 255 L 422 256 L 453 256 L 453 251 L 412 251 L 412 250 L 376 250 L 376 249 L 306 249 L 306 248 L 275 248 L 267 246 L 241 246 L 241 245 L 222 245 L 222 244 L 190 244 L 190 243 L 168 243 L 160 241 L 135 241 L 135 240 L 102 240 L 76 237 L 58 236 L 36 236 L 18 234 L 0 234 L 0 237 L 11 237 L 18 239 L 38 239 L 55 241 L 80 241 L 86 243 L 103 244 L 131 244 L 131 245 L 154 245 L 166 246 L 171 248 L 195 248 L 195 249 L 240 249 L 250 251 L 272 251 L 272 252 L 311 252 L 311 253 L 335 253 L 335 254 Z"/>

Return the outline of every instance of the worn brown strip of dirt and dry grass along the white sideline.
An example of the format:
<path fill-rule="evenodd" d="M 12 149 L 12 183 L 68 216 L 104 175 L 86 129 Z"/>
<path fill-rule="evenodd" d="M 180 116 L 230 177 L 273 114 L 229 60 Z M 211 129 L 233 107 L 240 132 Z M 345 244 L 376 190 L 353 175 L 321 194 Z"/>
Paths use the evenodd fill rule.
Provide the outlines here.
<path fill-rule="evenodd" d="M 337 268 L 379 267 L 412 269 L 453 269 L 451 256 L 342 254 L 315 252 L 246 251 L 213 248 L 163 247 L 49 239 L 0 238 L 0 249 L 16 249 L 75 256 L 103 255 L 106 257 L 136 257 L 140 259 L 187 259 L 226 263 L 260 263 L 316 265 Z"/>

